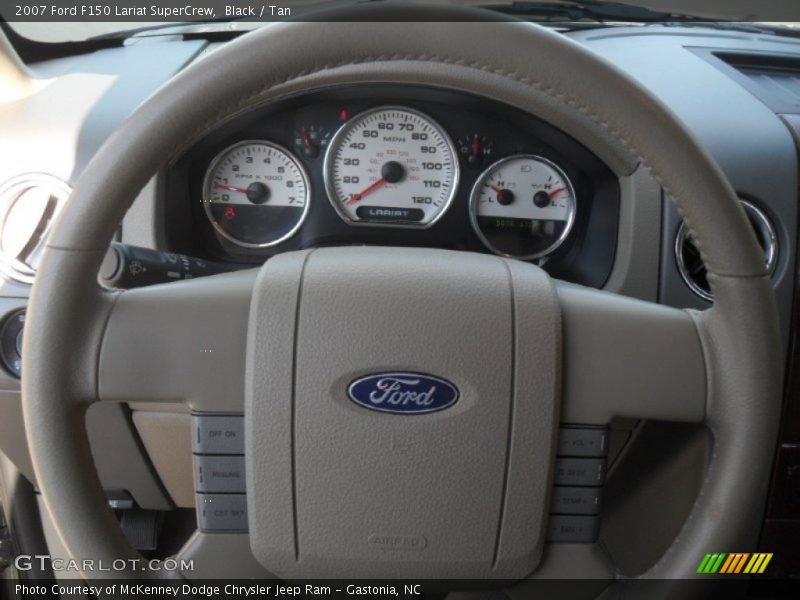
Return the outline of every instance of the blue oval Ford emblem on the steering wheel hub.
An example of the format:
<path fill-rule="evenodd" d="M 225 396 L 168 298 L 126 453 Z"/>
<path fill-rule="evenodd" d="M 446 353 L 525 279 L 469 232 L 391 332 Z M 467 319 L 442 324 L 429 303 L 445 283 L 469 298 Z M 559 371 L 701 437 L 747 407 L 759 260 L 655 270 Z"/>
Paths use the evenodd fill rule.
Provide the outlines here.
<path fill-rule="evenodd" d="M 347 395 L 364 408 L 418 415 L 453 406 L 458 401 L 458 388 L 424 373 L 372 373 L 351 383 Z"/>

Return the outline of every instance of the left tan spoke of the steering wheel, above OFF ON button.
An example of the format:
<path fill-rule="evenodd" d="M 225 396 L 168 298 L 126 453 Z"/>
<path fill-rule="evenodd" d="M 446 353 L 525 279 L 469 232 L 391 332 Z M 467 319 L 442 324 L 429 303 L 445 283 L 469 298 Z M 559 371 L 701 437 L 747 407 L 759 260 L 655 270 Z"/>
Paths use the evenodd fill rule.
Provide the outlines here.
<path fill-rule="evenodd" d="M 119 294 L 100 351 L 99 399 L 241 412 L 255 277 L 239 271 Z"/>

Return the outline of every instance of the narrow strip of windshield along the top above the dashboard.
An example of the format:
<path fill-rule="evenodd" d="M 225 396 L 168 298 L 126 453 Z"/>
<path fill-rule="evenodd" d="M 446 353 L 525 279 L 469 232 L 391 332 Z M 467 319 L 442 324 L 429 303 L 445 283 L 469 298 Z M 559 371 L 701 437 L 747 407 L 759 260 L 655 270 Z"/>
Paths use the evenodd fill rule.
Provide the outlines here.
<path fill-rule="evenodd" d="M 320 8 L 376 0 L 289 0 L 270 5 L 244 0 L 235 5 L 222 0 L 161 0 L 137 4 L 110 0 L 103 5 L 61 8 L 36 0 L 0 0 L 0 15 L 19 35 L 37 42 L 83 41 L 94 37 L 125 37 L 134 31 L 171 33 L 170 26 L 192 24 L 195 29 L 247 31 L 285 20 L 302 20 Z M 378 0 L 413 8 L 420 4 L 462 4 L 491 8 L 506 14 L 546 22 L 638 23 L 693 21 L 747 21 L 787 30 L 800 9 L 795 0 Z M 27 2 L 27 3 L 26 3 Z M 70 13 L 72 11 L 72 13 Z M 413 13 L 411 13 L 413 15 Z M 800 19 L 798 19 L 800 20 Z"/>

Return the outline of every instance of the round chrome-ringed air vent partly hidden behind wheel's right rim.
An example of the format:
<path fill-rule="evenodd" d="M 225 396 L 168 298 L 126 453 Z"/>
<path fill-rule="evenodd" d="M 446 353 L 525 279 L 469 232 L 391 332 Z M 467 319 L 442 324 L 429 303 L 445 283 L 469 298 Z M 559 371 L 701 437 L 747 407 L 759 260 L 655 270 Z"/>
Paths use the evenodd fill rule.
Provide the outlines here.
<path fill-rule="evenodd" d="M 775 233 L 775 227 L 767 215 L 755 204 L 747 200 L 740 200 L 740 202 L 750 224 L 753 226 L 756 239 L 764 250 L 764 263 L 767 265 L 767 270 L 772 274 L 775 270 L 775 265 L 778 263 L 778 236 Z M 678 235 L 675 238 L 675 259 L 678 263 L 678 271 L 680 271 L 686 285 L 704 300 L 713 302 L 714 296 L 711 294 L 711 288 L 708 285 L 706 267 L 700 258 L 700 253 L 692 243 L 684 223 L 681 223 Z"/>

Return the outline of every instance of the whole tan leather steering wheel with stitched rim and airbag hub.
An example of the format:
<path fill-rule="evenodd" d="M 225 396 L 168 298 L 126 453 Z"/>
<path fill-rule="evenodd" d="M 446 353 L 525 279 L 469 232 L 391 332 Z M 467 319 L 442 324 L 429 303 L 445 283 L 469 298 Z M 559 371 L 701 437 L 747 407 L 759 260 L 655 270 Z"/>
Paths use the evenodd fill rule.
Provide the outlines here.
<path fill-rule="evenodd" d="M 617 416 L 705 422 L 713 434 L 688 521 L 642 577 L 691 577 L 704 553 L 742 549 L 764 498 L 781 370 L 770 280 L 733 190 L 658 99 L 586 48 L 528 23 L 437 14 L 453 22 L 286 23 L 245 35 L 161 88 L 88 165 L 52 232 L 23 347 L 33 465 L 72 557 L 139 557 L 106 504 L 84 426 L 92 403 L 129 401 L 244 411 L 249 536 L 236 537 L 282 578 L 535 577 L 542 560 L 558 560 L 544 540 L 559 422 Z M 557 115 L 617 174 L 645 165 L 703 256 L 713 308 L 672 309 L 519 261 L 432 249 L 323 248 L 125 292 L 98 285 L 138 190 L 192 140 L 276 98 L 365 81 Z M 441 376 L 459 401 L 409 416 L 347 399 L 358 377 L 392 370 Z M 387 548 L 382 536 L 415 548 Z M 221 561 L 230 545 L 205 551 Z"/>

